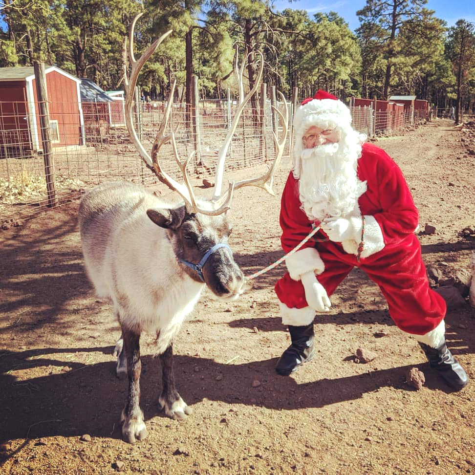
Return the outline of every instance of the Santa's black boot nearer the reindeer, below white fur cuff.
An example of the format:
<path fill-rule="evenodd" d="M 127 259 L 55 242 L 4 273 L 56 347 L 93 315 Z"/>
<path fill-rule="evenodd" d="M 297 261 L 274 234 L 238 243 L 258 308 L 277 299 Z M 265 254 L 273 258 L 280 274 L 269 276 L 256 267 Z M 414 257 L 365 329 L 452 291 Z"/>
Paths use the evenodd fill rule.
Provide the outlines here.
<path fill-rule="evenodd" d="M 307 326 L 289 325 L 290 345 L 277 362 L 276 371 L 282 376 L 288 376 L 299 365 L 313 358 L 313 322 Z"/>

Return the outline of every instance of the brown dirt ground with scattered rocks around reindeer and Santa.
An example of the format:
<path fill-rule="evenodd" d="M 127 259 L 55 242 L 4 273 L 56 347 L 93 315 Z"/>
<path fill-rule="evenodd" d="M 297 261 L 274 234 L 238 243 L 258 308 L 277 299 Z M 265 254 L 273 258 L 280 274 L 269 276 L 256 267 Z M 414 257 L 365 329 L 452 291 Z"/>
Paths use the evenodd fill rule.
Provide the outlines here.
<path fill-rule="evenodd" d="M 377 142 L 403 170 L 422 228 L 435 226 L 419 238 L 426 264 L 445 275 L 468 270 L 475 248 L 460 234 L 475 225 L 474 137 L 438 121 Z M 286 160 L 276 197 L 257 188 L 235 195 L 231 245 L 246 276 L 282 256 L 289 170 Z M 289 344 L 273 291 L 284 266 L 237 302 L 206 292 L 174 342 L 177 389 L 194 410 L 185 421 L 157 409 L 161 371 L 143 336 L 149 436 L 123 442 L 127 382 L 111 355 L 120 331 L 86 279 L 77 208 L 0 232 L 1 473 L 475 474 L 475 309 L 446 317 L 448 344 L 472 379 L 451 392 L 358 270 L 315 319 L 316 357 L 290 377 L 274 370 Z M 355 363 L 357 348 L 376 358 Z M 411 367 L 425 373 L 421 390 L 406 382 Z"/>

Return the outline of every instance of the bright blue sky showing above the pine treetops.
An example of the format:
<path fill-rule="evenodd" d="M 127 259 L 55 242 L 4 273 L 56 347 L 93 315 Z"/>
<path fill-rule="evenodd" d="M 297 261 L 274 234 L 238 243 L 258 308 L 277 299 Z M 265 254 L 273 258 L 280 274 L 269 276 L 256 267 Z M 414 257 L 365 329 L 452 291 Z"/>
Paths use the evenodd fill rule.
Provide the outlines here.
<path fill-rule="evenodd" d="M 349 24 L 350 30 L 355 30 L 360 25 L 357 10 L 366 5 L 366 0 L 276 0 L 274 11 L 282 11 L 285 8 L 293 10 L 306 10 L 310 17 L 315 13 L 337 12 Z M 435 10 L 435 16 L 445 20 L 449 26 L 453 26 L 457 20 L 464 19 L 475 22 L 475 1 L 470 0 L 429 0 L 425 5 L 430 10 Z"/>

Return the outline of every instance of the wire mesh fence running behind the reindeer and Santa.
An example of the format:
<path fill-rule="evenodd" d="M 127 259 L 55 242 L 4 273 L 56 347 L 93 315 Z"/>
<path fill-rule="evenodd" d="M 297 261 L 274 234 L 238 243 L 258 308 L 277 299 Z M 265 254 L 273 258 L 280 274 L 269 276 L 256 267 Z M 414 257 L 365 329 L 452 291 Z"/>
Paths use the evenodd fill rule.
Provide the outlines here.
<path fill-rule="evenodd" d="M 247 105 L 232 137 L 227 153 L 225 174 L 252 169 L 271 163 L 276 151 L 273 130 L 281 134 L 281 124 L 271 108 L 271 101 L 253 109 Z M 292 105 L 288 104 L 291 130 Z M 145 150 L 151 151 L 162 122 L 166 104 L 139 103 L 133 109 L 137 135 Z M 278 104 L 282 109 L 282 104 Z M 187 120 L 186 106 L 173 104 L 168 132 L 176 130 L 175 139 L 180 159 L 195 152 L 188 165 L 192 178 L 214 178 L 218 151 L 226 139 L 238 104 L 236 101 L 200 101 L 189 106 L 196 117 Z M 54 110 L 54 113 L 52 112 Z M 124 106 L 116 103 L 49 103 L 51 162 L 45 167 L 38 106 L 26 102 L 0 102 L 0 227 L 20 224 L 51 207 L 48 182 L 54 183 L 54 205 L 78 199 L 88 188 L 99 183 L 127 180 L 150 186 L 158 183 L 132 145 L 125 128 Z M 371 107 L 352 107 L 353 126 L 368 137 L 402 134 L 427 120 L 413 110 L 402 116 L 374 112 Z M 187 125 L 189 124 L 189 125 Z M 289 156 L 289 138 L 283 152 Z M 181 173 L 176 165 L 172 145 L 166 142 L 159 151 L 163 170 L 178 181 Z M 50 174 L 45 173 L 51 170 Z"/>

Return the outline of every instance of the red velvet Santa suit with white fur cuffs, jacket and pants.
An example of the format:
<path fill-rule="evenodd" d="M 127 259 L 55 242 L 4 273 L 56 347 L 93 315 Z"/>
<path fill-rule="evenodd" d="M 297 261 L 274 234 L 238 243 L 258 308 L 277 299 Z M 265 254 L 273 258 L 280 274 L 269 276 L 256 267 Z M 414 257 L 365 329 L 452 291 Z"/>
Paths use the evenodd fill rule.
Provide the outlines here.
<path fill-rule="evenodd" d="M 312 104 L 317 102 L 312 101 Z M 337 116 L 341 113 L 347 120 L 346 111 L 340 112 L 346 106 L 340 101 L 330 103 L 338 103 Z M 321 224 L 318 219 L 310 219 L 303 209 L 299 191 L 301 169 L 296 173 L 295 167 L 300 163 L 298 144 L 303 130 L 309 125 L 320 124 L 315 118 L 320 120 L 325 112 L 318 109 L 305 113 L 303 117 L 296 113 L 294 155 L 297 153 L 298 156 L 294 156 L 294 171 L 289 174 L 281 198 L 281 244 L 286 253 L 294 249 L 314 226 Z M 331 118 L 331 113 L 328 117 Z M 419 215 L 406 180 L 385 151 L 368 143 L 362 145 L 356 174 L 361 182 L 366 182 L 366 191 L 357 198 L 356 213 L 346 217 L 350 221 L 363 222 L 363 235 L 334 242 L 319 230 L 286 259 L 288 272 L 275 285 L 281 302 L 282 323 L 302 326 L 313 322 L 315 310 L 307 304 L 301 281 L 303 274 L 313 271 L 331 296 L 357 266 L 381 289 L 395 324 L 417 340 L 435 347 L 445 334 L 446 304 L 429 287 L 420 243 L 414 234 Z"/>

